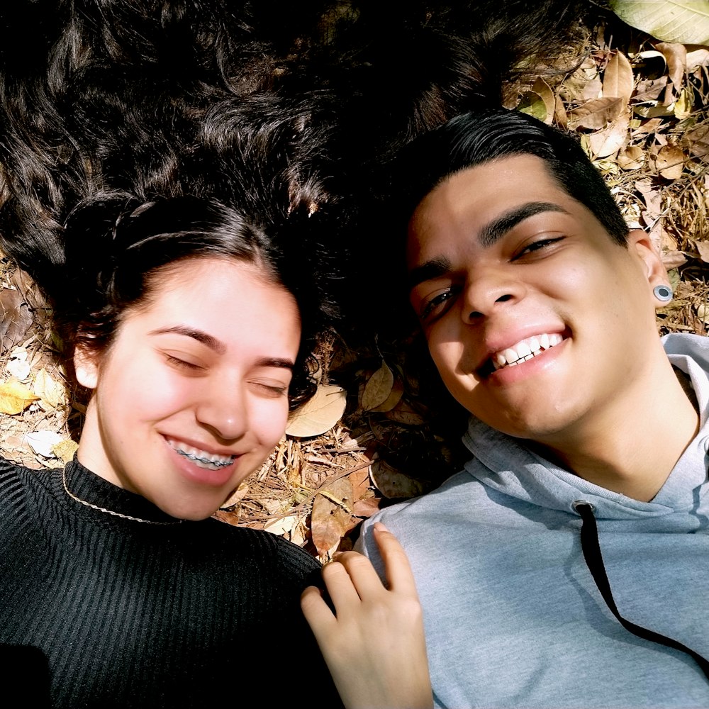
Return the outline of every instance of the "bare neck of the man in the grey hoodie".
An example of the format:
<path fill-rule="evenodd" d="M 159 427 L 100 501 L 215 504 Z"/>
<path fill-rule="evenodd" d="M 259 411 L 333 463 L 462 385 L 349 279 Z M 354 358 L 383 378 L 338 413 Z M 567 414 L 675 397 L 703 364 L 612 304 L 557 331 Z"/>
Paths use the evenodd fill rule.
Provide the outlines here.
<path fill-rule="evenodd" d="M 637 396 L 619 397 L 603 419 L 584 421 L 562 442 L 531 447 L 589 482 L 649 502 L 699 430 L 698 413 L 671 364 L 658 369 Z"/>

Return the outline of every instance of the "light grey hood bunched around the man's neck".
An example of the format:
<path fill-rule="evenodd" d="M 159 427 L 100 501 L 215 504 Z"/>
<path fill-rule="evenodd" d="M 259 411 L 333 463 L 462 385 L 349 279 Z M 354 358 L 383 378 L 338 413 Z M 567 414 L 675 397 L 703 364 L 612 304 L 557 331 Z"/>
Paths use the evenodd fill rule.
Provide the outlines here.
<path fill-rule="evenodd" d="M 606 490 L 528 450 L 524 442 L 493 430 L 471 417 L 463 442 L 473 454 L 466 469 L 500 493 L 547 509 L 575 513 L 574 502 L 590 502 L 596 518 L 632 520 L 697 511 L 708 491 L 707 426 L 709 340 L 698 335 L 667 335 L 663 345 L 670 362 L 688 375 L 696 393 L 700 431 L 688 445 L 657 496 L 641 502 Z"/>

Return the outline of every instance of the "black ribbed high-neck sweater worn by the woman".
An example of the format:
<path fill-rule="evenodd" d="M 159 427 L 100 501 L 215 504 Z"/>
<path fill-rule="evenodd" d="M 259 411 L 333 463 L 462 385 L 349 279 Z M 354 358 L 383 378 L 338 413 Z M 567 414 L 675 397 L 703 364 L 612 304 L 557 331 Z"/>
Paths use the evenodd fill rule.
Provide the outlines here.
<path fill-rule="evenodd" d="M 97 506 L 172 522 L 74 461 Z M 149 525 L 0 459 L 0 672 L 26 706 L 338 705 L 298 598 L 309 554 L 216 520 Z M 13 692 L 15 690 L 15 692 Z"/>

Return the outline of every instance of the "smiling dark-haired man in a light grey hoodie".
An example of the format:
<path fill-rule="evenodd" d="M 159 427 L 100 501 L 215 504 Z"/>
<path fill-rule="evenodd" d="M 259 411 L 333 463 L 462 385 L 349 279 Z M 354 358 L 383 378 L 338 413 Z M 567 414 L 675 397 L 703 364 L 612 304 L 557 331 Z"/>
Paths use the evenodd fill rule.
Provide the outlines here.
<path fill-rule="evenodd" d="M 464 471 L 372 520 L 437 705 L 709 706 L 709 343 L 659 339 L 665 269 L 569 136 L 480 111 L 402 162 L 411 304 L 472 414 Z"/>

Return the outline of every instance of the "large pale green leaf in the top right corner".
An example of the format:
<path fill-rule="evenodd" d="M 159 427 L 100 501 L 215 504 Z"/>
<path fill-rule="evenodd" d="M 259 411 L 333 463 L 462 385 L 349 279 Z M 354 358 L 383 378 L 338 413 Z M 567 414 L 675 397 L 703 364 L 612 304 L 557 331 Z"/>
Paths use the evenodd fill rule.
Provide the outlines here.
<path fill-rule="evenodd" d="M 709 45 L 709 0 L 610 0 L 623 22 L 664 42 Z"/>

